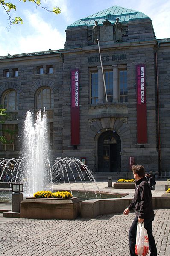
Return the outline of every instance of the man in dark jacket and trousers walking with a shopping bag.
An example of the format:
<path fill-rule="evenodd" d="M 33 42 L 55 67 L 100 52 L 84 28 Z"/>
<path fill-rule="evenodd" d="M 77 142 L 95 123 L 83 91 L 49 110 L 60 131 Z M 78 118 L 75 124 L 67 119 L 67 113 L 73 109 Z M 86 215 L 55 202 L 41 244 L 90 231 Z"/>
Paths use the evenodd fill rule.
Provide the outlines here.
<path fill-rule="evenodd" d="M 155 239 L 152 235 L 152 221 L 155 214 L 150 186 L 145 178 L 145 169 L 142 165 L 133 165 L 132 171 L 136 181 L 135 194 L 132 202 L 123 212 L 124 215 L 128 215 L 130 210 L 135 209 L 136 217 L 129 230 L 130 255 L 137 256 L 135 253 L 137 224 L 138 222 L 144 222 L 144 227 L 148 234 L 150 256 L 157 256 Z"/>

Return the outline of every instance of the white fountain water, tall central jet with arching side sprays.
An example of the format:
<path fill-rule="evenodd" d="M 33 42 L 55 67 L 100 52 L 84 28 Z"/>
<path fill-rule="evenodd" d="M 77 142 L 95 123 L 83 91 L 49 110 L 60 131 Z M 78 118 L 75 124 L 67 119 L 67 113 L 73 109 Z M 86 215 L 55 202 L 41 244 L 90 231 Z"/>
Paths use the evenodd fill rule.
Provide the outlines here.
<path fill-rule="evenodd" d="M 88 167 L 76 158 L 57 157 L 53 166 L 50 164 L 50 149 L 48 143 L 47 117 L 45 111 L 38 111 L 34 124 L 33 114 L 28 111 L 25 119 L 23 135 L 23 152 L 19 159 L 0 159 L 1 174 L 0 181 L 6 173 L 11 174 L 10 183 L 22 182 L 23 194 L 33 196 L 37 191 L 49 189 L 53 191 L 53 180 L 60 179 L 66 184 L 69 183 L 70 192 L 72 188 L 70 179 L 76 183 L 76 176 L 82 182 L 82 187 L 87 197 L 88 186 L 85 176 L 91 182 L 94 193 L 97 194 L 99 188 L 94 176 Z M 85 174 L 85 175 L 84 175 Z M 76 185 L 77 191 L 78 186 Z M 99 192 L 100 193 L 100 192 Z"/>

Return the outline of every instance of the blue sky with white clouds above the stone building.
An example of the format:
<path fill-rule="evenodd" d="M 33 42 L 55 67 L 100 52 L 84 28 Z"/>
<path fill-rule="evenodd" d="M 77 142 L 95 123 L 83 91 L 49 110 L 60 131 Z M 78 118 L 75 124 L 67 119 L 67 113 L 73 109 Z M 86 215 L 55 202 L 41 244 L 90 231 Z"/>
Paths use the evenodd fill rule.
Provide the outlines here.
<path fill-rule="evenodd" d="M 0 6 L 0 56 L 63 49 L 67 26 L 114 5 L 143 12 L 151 18 L 158 39 L 170 38 L 170 0 L 41 0 L 49 9 L 59 6 L 59 15 L 48 13 L 33 3 L 11 2 L 17 6 L 13 17 L 21 16 L 24 24 L 8 29 L 7 15 Z"/>

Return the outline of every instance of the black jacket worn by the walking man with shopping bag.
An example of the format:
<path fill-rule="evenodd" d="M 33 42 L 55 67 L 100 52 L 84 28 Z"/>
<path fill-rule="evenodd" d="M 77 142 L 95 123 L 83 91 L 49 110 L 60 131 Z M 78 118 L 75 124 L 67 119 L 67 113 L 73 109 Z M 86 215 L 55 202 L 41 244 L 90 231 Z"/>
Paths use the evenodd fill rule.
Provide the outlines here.
<path fill-rule="evenodd" d="M 135 214 L 141 219 L 153 218 L 152 194 L 145 177 L 136 181 L 135 194 L 128 206 L 129 210 L 135 208 Z"/>

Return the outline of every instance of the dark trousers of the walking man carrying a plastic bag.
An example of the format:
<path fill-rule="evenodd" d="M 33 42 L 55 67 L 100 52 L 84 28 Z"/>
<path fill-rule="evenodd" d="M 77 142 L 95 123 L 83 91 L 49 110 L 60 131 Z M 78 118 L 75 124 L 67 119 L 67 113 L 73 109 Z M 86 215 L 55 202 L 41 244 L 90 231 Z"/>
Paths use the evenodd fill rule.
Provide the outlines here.
<path fill-rule="evenodd" d="M 144 227 L 147 230 L 148 240 L 149 240 L 149 250 L 150 256 L 157 256 L 157 249 L 155 244 L 155 239 L 152 235 L 152 221 L 154 218 L 151 219 L 144 219 Z M 129 245 L 130 245 L 130 255 L 136 256 L 135 253 L 135 244 L 136 244 L 136 229 L 138 224 L 138 217 L 134 219 L 132 225 L 129 230 Z"/>

